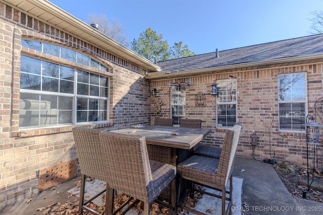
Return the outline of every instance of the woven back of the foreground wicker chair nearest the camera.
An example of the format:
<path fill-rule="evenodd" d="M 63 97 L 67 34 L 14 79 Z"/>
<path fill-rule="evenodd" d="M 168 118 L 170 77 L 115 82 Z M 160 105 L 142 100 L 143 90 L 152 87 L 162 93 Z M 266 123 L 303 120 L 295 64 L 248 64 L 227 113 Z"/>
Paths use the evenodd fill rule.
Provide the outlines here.
<path fill-rule="evenodd" d="M 144 136 L 103 132 L 109 184 L 120 192 L 148 202 L 146 186 L 152 181 Z"/>

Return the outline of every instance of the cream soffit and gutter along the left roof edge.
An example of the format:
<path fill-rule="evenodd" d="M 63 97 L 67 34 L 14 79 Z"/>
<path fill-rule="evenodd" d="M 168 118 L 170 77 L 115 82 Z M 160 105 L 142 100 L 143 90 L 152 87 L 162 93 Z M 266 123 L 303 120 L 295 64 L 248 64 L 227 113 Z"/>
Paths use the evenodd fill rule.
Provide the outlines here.
<path fill-rule="evenodd" d="M 23 13 L 37 18 L 46 24 L 55 26 L 69 34 L 88 41 L 107 52 L 129 60 L 148 71 L 158 71 L 160 67 L 148 59 L 140 56 L 131 49 L 121 45 L 115 40 L 93 29 L 88 24 L 75 18 L 71 14 L 60 9 L 46 0 L 0 0 L 6 5 L 22 11 Z"/>

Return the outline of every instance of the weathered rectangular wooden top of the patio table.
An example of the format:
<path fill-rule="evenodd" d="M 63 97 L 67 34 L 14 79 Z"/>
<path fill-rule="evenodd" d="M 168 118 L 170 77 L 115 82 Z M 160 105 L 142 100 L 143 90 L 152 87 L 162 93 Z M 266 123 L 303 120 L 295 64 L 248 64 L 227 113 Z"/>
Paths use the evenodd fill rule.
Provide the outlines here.
<path fill-rule="evenodd" d="M 143 129 L 127 128 L 113 132 L 143 135 L 147 144 L 188 150 L 210 133 L 211 129 L 146 125 Z"/>

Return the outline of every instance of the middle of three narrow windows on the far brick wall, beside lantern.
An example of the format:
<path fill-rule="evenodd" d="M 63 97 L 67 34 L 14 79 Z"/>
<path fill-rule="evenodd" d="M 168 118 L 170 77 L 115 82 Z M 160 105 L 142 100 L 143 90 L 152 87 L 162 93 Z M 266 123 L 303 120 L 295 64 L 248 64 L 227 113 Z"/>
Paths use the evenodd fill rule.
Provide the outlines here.
<path fill-rule="evenodd" d="M 221 79 L 217 84 L 217 127 L 232 127 L 237 122 L 237 79 Z"/>

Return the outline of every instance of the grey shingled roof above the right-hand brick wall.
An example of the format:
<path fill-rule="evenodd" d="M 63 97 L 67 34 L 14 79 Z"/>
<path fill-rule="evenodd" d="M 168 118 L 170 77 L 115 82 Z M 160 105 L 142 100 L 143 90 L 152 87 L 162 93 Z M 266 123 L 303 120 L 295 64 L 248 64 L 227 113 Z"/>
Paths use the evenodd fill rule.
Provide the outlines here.
<path fill-rule="evenodd" d="M 323 34 L 310 35 L 241 48 L 199 54 L 178 59 L 159 61 L 157 64 L 168 72 L 252 63 L 323 53 Z"/>

